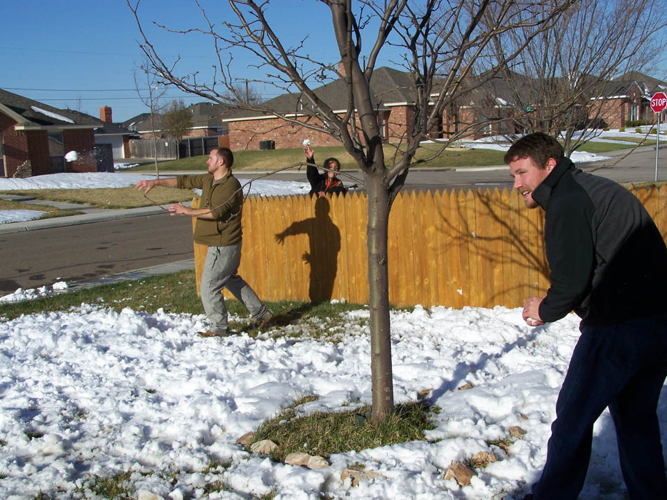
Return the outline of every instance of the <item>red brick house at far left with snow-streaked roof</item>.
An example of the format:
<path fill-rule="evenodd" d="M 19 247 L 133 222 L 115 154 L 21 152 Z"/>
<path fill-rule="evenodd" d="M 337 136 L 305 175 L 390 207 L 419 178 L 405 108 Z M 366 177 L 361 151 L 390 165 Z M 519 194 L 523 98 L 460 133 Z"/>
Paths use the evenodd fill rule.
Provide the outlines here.
<path fill-rule="evenodd" d="M 90 118 L 0 89 L 0 176 L 97 172 Z M 79 159 L 66 162 L 69 151 Z"/>

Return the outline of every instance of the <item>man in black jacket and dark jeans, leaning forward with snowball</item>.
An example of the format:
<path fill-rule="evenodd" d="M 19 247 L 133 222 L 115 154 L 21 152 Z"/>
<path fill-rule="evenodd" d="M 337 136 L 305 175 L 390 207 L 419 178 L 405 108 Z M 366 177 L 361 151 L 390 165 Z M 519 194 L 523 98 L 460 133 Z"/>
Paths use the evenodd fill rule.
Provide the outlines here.
<path fill-rule="evenodd" d="M 526 499 L 579 496 L 593 424 L 607 406 L 629 498 L 667 499 L 657 418 L 667 376 L 665 242 L 632 193 L 576 169 L 549 135 L 526 135 L 504 160 L 525 205 L 545 210 L 551 285 L 527 299 L 523 318 L 538 326 L 572 310 L 582 317 L 547 460 Z"/>

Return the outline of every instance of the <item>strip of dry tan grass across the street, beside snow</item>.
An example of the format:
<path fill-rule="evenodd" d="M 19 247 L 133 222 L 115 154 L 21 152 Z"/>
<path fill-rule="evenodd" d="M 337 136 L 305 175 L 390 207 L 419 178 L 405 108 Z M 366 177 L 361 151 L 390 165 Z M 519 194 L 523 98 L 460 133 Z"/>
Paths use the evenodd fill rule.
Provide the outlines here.
<path fill-rule="evenodd" d="M 153 188 L 148 197 L 138 192 L 134 186 L 126 188 L 99 188 L 99 189 L 47 189 L 47 190 L 18 190 L 4 191 L 4 194 L 21 194 L 37 199 L 50 201 L 67 201 L 68 203 L 84 203 L 97 208 L 137 208 L 142 206 L 165 205 L 178 201 L 191 201 L 195 194 L 190 190 L 175 188 Z M 18 208 L 24 208 L 25 203 Z M 36 210 L 36 209 L 35 209 Z M 43 209 L 42 209 L 43 210 Z M 57 209 L 53 209 L 57 210 Z M 72 214 L 67 214 L 72 215 Z"/>

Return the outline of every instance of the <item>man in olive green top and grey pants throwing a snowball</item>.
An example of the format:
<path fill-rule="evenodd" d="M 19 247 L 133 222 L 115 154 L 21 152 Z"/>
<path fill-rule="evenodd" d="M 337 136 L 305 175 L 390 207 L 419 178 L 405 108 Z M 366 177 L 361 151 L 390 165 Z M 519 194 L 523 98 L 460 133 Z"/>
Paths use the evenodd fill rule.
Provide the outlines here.
<path fill-rule="evenodd" d="M 199 290 L 210 326 L 208 331 L 199 332 L 202 337 L 226 337 L 230 333 L 223 288 L 248 309 L 254 324 L 264 324 L 271 317 L 254 290 L 237 274 L 241 262 L 243 192 L 238 179 L 231 174 L 233 163 L 231 150 L 219 147 L 208 155 L 207 174 L 139 181 L 136 185 L 138 190 L 145 192 L 156 185 L 201 190 L 204 207 L 188 208 L 183 203 L 174 203 L 169 211 L 172 215 L 196 217 L 195 242 L 208 247 Z"/>

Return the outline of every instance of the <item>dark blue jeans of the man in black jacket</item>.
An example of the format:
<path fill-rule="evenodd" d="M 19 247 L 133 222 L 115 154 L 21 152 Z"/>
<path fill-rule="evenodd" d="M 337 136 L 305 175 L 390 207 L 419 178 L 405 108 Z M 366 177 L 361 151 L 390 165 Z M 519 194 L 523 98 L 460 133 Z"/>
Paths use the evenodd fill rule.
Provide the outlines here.
<path fill-rule="evenodd" d="M 575 500 L 593 424 L 609 406 L 631 500 L 667 499 L 657 404 L 667 376 L 667 315 L 583 327 L 556 403 L 535 500 Z"/>

